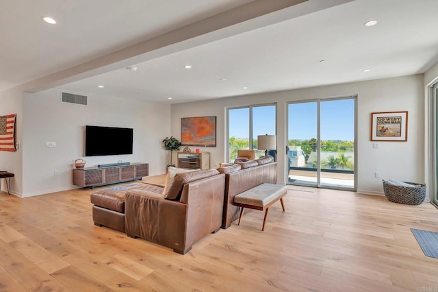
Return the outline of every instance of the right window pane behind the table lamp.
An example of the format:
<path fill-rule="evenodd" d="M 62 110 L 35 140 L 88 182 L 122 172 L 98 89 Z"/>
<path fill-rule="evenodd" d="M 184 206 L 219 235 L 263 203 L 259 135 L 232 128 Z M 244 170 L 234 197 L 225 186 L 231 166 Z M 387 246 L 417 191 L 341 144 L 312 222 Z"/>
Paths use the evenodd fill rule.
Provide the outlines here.
<path fill-rule="evenodd" d="M 257 136 L 275 135 L 275 106 L 257 106 L 253 108 L 253 149 L 257 149 Z M 264 150 L 256 150 L 255 157 L 264 156 Z M 275 149 L 268 151 L 275 156 Z"/>

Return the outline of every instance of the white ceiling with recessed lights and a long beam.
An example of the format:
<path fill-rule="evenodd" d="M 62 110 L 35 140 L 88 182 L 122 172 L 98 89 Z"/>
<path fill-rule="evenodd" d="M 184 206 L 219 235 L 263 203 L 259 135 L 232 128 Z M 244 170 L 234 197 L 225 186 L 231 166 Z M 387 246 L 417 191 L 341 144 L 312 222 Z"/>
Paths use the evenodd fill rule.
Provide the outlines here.
<path fill-rule="evenodd" d="M 309 0 L 245 19 L 268 1 L 265 10 L 294 2 L 0 0 L 0 91 L 28 84 L 175 103 L 424 73 L 438 61 L 437 0 Z M 202 31 L 227 10 L 235 14 Z M 240 21 L 227 22 L 233 15 Z M 370 19 L 378 24 L 365 27 Z"/>

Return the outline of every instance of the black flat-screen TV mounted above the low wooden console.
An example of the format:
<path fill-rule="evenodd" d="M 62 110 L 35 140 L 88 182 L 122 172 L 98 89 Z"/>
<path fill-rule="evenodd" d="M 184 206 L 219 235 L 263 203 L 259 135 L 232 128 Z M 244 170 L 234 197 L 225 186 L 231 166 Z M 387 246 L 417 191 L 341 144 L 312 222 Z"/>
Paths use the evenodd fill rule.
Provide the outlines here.
<path fill-rule="evenodd" d="M 86 125 L 85 156 L 132 154 L 133 129 Z"/>

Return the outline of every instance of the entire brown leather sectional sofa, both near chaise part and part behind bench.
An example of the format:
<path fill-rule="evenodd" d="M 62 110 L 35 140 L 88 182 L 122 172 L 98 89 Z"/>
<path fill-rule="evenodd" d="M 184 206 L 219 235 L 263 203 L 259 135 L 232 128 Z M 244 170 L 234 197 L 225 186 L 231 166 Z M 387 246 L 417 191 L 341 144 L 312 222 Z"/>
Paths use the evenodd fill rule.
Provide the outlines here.
<path fill-rule="evenodd" d="M 234 196 L 263 182 L 276 183 L 276 162 L 261 158 L 218 170 L 177 173 L 163 187 L 142 182 L 91 195 L 96 226 L 107 226 L 185 254 L 192 245 L 239 217 Z"/>

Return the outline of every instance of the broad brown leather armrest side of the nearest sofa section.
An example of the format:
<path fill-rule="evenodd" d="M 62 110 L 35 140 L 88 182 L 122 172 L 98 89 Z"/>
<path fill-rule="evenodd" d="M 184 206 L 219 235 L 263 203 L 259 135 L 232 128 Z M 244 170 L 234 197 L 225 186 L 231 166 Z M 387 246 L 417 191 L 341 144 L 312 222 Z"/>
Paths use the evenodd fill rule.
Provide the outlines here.
<path fill-rule="evenodd" d="M 125 199 L 125 231 L 185 253 L 187 204 L 148 191 L 129 191 Z"/>

